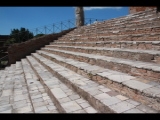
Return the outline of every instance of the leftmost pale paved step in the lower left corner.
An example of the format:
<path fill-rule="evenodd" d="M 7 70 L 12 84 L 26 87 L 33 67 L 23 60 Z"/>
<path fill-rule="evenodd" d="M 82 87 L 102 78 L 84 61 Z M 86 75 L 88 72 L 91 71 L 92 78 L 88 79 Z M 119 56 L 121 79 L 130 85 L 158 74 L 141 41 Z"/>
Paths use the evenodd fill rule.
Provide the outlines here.
<path fill-rule="evenodd" d="M 0 76 L 0 113 L 12 113 L 15 64 L 6 67 Z"/>

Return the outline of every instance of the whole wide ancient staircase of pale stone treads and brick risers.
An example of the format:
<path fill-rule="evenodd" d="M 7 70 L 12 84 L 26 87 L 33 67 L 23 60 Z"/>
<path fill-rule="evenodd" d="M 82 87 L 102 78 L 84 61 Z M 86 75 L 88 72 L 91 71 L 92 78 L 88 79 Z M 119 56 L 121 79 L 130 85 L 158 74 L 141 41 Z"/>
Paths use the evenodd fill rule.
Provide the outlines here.
<path fill-rule="evenodd" d="M 159 31 L 155 9 L 74 29 L 0 71 L 0 112 L 159 113 Z"/>

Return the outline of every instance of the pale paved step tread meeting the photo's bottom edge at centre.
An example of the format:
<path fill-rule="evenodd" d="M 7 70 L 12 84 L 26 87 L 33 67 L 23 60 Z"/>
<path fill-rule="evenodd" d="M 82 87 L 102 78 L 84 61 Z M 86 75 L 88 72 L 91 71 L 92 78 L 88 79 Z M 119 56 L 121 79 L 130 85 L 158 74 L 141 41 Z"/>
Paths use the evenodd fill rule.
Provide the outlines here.
<path fill-rule="evenodd" d="M 48 93 L 60 113 L 97 113 L 97 110 L 86 100 L 54 77 L 37 60 L 31 56 L 27 56 L 27 60 L 48 89 Z M 48 63 L 48 65 L 51 65 L 51 63 Z"/>

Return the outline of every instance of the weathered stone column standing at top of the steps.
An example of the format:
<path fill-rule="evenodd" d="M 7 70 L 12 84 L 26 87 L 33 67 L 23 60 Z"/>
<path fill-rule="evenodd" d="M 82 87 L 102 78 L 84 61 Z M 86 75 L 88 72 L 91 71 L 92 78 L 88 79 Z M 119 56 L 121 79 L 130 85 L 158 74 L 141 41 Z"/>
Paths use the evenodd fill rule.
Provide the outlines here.
<path fill-rule="evenodd" d="M 76 13 L 76 26 L 83 26 L 84 25 L 84 11 L 83 7 L 76 7 L 75 9 Z"/>

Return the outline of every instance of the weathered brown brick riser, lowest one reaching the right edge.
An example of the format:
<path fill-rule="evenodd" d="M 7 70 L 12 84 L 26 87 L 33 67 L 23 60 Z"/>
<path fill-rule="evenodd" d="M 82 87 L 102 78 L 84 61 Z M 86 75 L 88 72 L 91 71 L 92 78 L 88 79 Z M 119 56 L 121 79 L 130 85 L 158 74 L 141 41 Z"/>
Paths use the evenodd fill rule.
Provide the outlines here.
<path fill-rule="evenodd" d="M 59 61 L 56 57 L 53 58 L 53 57 L 48 56 L 44 53 L 41 53 L 40 51 L 37 51 L 37 53 L 42 55 L 43 57 L 50 59 L 51 61 L 53 61 L 55 63 L 58 63 L 58 64 L 65 66 L 66 68 L 68 68 L 74 72 L 77 72 L 78 74 L 80 74 L 88 79 L 92 79 L 100 84 L 105 84 L 110 89 L 114 88 L 116 91 L 118 91 L 118 92 L 120 92 L 120 93 L 122 93 L 122 94 L 136 100 L 136 101 L 142 102 L 144 104 L 153 104 L 154 103 L 152 105 L 152 107 L 157 110 L 160 110 L 160 104 L 159 104 L 160 96 L 154 95 L 154 94 L 152 94 L 152 92 L 150 93 L 148 91 L 146 91 L 146 92 L 142 91 L 141 89 L 137 89 L 136 87 L 128 86 L 127 84 L 124 84 L 122 82 L 115 81 L 107 76 L 100 75 L 97 73 L 95 74 L 90 71 L 85 71 L 83 68 L 79 69 L 79 67 L 77 67 L 73 64 L 65 63 L 62 60 Z M 123 73 L 121 73 L 121 74 L 123 75 Z M 152 86 L 150 86 L 150 87 L 152 87 Z M 158 108 L 157 108 L 157 105 L 158 105 Z"/>

